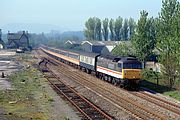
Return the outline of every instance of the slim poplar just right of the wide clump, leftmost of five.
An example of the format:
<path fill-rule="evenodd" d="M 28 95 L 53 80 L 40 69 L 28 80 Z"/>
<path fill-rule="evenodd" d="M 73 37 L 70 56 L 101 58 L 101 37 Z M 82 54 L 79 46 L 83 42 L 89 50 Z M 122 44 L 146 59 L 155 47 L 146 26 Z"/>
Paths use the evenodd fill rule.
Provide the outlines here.
<path fill-rule="evenodd" d="M 108 20 L 108 18 L 105 18 L 102 22 L 103 22 L 103 29 L 102 29 L 103 37 L 104 37 L 105 41 L 108 41 L 108 33 L 109 33 L 108 23 L 109 23 L 109 20 Z"/>

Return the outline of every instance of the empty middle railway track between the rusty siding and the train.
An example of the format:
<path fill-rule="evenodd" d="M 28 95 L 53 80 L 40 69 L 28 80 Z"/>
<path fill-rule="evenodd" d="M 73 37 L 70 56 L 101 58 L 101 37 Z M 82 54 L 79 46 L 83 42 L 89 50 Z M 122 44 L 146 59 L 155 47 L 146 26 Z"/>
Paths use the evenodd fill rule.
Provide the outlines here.
<path fill-rule="evenodd" d="M 162 120 L 165 119 L 164 116 L 159 115 L 158 113 L 147 109 L 145 106 L 141 104 L 138 104 L 127 98 L 123 98 L 122 96 L 119 96 L 111 92 L 110 90 L 103 88 L 103 86 L 98 86 L 97 84 L 88 81 L 86 77 L 83 77 L 83 75 L 80 75 L 78 73 L 73 73 L 72 71 L 67 69 L 67 66 L 65 64 L 62 64 L 58 61 L 54 62 L 54 59 L 50 59 L 50 61 L 53 64 L 56 64 L 56 66 L 54 66 L 53 69 L 57 69 L 64 76 L 70 79 L 76 80 L 76 82 L 78 82 L 79 84 L 83 86 L 85 85 L 85 86 L 88 86 L 89 88 L 94 88 L 96 93 L 102 95 L 103 97 L 107 98 L 108 100 L 122 107 L 123 109 L 125 109 L 125 111 L 127 111 L 128 113 L 131 113 L 136 118 L 146 119 L 146 120 L 147 119 L 162 119 Z"/>

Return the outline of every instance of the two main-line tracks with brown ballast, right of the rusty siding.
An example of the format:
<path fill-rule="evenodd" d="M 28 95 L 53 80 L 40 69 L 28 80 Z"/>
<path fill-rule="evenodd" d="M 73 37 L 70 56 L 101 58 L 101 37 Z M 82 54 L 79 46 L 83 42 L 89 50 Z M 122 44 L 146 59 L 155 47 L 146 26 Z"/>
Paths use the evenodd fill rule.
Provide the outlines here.
<path fill-rule="evenodd" d="M 43 55 L 43 53 L 39 54 Z M 101 106 L 100 108 L 110 113 L 113 119 L 179 119 L 178 102 L 168 102 L 147 91 L 132 92 L 120 89 L 49 56 L 43 56 L 43 61 L 45 70 L 42 69 L 42 71 L 53 73 L 56 79 L 66 82 L 67 86 L 71 86 L 90 101 Z"/>

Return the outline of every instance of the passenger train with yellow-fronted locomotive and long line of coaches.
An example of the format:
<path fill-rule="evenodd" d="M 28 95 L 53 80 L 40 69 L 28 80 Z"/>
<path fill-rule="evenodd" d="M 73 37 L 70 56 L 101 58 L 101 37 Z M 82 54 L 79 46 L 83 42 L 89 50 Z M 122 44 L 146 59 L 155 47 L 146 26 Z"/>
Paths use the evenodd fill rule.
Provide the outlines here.
<path fill-rule="evenodd" d="M 69 49 L 56 49 L 41 46 L 40 49 L 50 57 L 73 65 L 88 74 L 116 86 L 136 89 L 141 80 L 142 63 L 135 57 L 102 55 Z"/>

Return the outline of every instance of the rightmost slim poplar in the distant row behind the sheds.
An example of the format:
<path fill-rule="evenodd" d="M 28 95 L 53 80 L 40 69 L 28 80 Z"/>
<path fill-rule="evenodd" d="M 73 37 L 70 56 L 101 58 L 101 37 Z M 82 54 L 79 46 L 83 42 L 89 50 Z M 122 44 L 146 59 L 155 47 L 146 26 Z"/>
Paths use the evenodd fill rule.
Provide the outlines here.
<path fill-rule="evenodd" d="M 128 26 L 129 26 L 129 38 L 131 38 L 134 34 L 135 27 L 136 27 L 136 22 L 134 21 L 133 18 L 129 18 Z"/>

